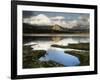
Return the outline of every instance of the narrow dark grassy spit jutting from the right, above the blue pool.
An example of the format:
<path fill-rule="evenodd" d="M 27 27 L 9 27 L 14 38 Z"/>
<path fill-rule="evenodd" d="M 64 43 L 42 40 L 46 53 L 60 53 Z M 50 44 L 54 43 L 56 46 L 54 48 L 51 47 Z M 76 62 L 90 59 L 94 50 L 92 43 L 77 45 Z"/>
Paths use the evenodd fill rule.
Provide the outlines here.
<path fill-rule="evenodd" d="M 79 50 L 89 50 L 89 43 L 68 44 L 68 46 L 53 44 L 51 46 L 52 47 L 59 47 L 59 48 L 71 48 L 71 49 L 79 49 Z"/>

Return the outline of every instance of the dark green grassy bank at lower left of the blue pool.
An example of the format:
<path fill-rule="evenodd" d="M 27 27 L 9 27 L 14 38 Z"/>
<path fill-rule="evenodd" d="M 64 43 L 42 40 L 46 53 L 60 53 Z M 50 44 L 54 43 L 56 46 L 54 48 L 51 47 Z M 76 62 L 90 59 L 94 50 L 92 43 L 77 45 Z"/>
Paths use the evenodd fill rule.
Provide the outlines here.
<path fill-rule="evenodd" d="M 54 61 L 40 61 L 39 58 L 45 54 L 45 50 L 32 50 L 31 46 L 23 46 L 23 68 L 63 66 Z"/>

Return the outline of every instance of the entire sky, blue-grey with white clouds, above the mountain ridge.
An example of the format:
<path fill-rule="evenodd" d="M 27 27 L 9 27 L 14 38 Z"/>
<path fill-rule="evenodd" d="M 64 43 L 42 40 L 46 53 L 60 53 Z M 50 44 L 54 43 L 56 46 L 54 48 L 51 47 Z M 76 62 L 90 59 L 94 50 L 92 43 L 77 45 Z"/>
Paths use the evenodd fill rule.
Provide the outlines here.
<path fill-rule="evenodd" d="M 89 27 L 89 14 L 67 12 L 23 11 L 23 23 L 31 25 L 55 25 L 64 28 Z"/>

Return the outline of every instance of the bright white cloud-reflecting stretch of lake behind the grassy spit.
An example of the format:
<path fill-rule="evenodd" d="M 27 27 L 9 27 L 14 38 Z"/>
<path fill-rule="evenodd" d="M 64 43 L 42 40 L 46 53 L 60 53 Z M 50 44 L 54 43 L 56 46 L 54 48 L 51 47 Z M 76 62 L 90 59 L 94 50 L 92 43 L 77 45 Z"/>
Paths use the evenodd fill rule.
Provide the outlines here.
<path fill-rule="evenodd" d="M 87 43 L 89 37 L 40 37 L 35 36 L 32 41 L 24 45 L 31 45 L 34 50 L 48 50 L 52 44 L 67 46 L 70 43 Z"/>

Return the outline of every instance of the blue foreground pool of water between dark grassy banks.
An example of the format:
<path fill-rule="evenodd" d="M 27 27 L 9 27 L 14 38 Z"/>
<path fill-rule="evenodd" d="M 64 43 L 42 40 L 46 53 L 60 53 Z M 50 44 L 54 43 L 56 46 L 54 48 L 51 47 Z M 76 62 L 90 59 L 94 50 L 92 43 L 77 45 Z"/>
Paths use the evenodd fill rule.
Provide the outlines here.
<path fill-rule="evenodd" d="M 57 63 L 63 64 L 64 66 L 74 66 L 80 64 L 77 57 L 65 54 L 63 50 L 50 48 L 47 50 L 45 56 L 40 58 L 41 61 L 53 60 Z"/>

